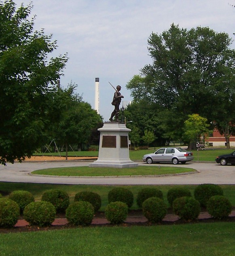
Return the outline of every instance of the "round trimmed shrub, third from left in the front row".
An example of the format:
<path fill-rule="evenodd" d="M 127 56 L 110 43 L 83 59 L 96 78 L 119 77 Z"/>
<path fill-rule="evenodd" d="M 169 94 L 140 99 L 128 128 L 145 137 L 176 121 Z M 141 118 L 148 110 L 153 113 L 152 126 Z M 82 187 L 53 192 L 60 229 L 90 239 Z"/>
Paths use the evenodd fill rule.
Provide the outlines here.
<path fill-rule="evenodd" d="M 70 224 L 88 226 L 92 222 L 94 213 L 94 207 L 91 203 L 78 201 L 70 204 L 66 209 L 66 218 Z"/>

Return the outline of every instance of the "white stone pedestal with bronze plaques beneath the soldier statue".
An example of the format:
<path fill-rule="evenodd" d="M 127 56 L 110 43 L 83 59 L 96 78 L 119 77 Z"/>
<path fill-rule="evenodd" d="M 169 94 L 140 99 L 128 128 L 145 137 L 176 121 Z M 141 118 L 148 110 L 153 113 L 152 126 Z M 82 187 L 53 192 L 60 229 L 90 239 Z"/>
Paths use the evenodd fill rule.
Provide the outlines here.
<path fill-rule="evenodd" d="M 138 163 L 129 157 L 128 129 L 124 123 L 104 123 L 100 129 L 99 157 L 89 167 L 131 168 Z"/>

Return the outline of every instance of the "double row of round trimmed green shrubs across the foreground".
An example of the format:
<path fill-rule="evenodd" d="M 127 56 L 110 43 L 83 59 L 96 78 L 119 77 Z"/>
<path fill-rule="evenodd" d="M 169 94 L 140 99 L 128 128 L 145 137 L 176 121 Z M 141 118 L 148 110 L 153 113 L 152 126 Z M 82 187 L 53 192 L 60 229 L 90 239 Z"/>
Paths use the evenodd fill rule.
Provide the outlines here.
<path fill-rule="evenodd" d="M 231 203 L 223 196 L 218 185 L 198 185 L 191 192 L 182 187 L 173 187 L 167 192 L 167 200 L 175 214 L 186 220 L 197 219 L 201 207 L 207 207 L 212 217 L 223 219 L 231 213 Z M 143 209 L 144 216 L 150 222 L 161 221 L 167 213 L 163 193 L 157 188 L 144 188 L 138 192 L 136 202 Z M 108 193 L 106 218 L 113 224 L 123 222 L 128 209 L 133 205 L 133 194 L 129 189 L 118 187 Z M 20 213 L 30 225 L 50 225 L 56 213 L 65 212 L 68 222 L 73 225 L 89 225 L 94 213 L 101 207 L 101 198 L 97 193 L 82 191 L 75 195 L 74 203 L 69 204 L 69 196 L 59 189 L 50 189 L 43 193 L 42 201 L 34 202 L 28 191 L 14 191 L 9 199 L 0 195 L 0 226 L 14 226 Z"/>

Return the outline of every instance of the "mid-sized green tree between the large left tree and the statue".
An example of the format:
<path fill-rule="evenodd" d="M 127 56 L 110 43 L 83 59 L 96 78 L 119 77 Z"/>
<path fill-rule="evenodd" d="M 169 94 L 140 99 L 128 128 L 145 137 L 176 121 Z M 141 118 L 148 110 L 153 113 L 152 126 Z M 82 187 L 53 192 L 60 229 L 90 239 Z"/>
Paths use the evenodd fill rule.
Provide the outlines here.
<path fill-rule="evenodd" d="M 89 103 L 74 92 L 76 85 L 69 84 L 66 89 L 58 89 L 52 94 L 53 107 L 49 112 L 51 138 L 56 138 L 66 147 L 71 144 L 88 144 L 91 133 L 102 117 L 91 108 Z"/>

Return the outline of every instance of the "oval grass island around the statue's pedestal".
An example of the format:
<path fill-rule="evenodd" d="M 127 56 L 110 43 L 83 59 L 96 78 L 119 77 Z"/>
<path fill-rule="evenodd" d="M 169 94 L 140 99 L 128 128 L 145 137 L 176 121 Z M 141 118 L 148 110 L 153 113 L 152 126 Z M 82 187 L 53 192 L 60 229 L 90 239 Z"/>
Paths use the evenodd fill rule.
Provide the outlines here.
<path fill-rule="evenodd" d="M 49 168 L 33 171 L 33 174 L 57 176 L 120 176 L 120 175 L 161 175 L 196 171 L 193 168 L 167 166 L 138 166 L 135 168 L 89 168 L 89 166 Z"/>

